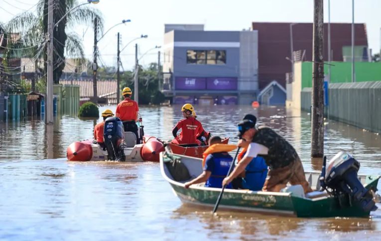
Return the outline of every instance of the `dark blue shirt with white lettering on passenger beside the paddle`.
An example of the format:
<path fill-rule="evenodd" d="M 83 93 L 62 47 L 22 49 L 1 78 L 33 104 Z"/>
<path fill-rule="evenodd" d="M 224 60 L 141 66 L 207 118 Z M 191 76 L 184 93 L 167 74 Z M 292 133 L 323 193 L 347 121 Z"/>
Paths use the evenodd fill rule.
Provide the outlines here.
<path fill-rule="evenodd" d="M 213 163 L 210 163 L 211 161 L 213 161 Z M 212 174 L 206 181 L 205 186 L 222 188 L 222 180 L 227 176 L 232 162 L 233 158 L 228 153 L 210 154 L 206 160 L 206 167 L 212 165 L 213 168 L 209 169 L 207 167 L 207 170 L 210 170 Z M 232 183 L 229 183 L 226 188 L 232 188 Z"/>

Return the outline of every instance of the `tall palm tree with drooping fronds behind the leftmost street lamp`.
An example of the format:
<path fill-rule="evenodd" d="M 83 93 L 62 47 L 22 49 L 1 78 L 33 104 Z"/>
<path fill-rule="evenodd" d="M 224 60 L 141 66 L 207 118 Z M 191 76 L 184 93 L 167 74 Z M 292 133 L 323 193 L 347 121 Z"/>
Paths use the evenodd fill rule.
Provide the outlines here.
<path fill-rule="evenodd" d="M 58 22 L 71 8 L 77 6 L 77 0 L 54 0 L 53 22 Z M 94 25 L 94 19 L 98 19 L 99 32 L 103 31 L 102 14 L 88 5 L 80 6 L 71 11 L 58 25 L 54 28 L 54 51 L 53 51 L 53 80 L 58 83 L 65 67 L 65 51 L 67 55 L 84 58 L 83 46 L 80 37 L 75 32 L 67 32 L 67 28 L 74 27 L 78 24 Z M 19 32 L 23 45 L 38 46 L 44 43 L 47 33 L 48 21 L 48 0 L 39 0 L 37 3 L 37 11 L 35 13 L 25 11 L 22 14 L 11 19 L 6 25 L 9 33 Z M 46 45 L 43 46 L 44 51 L 41 53 L 45 60 L 46 72 Z M 38 52 L 30 53 L 35 56 Z"/>

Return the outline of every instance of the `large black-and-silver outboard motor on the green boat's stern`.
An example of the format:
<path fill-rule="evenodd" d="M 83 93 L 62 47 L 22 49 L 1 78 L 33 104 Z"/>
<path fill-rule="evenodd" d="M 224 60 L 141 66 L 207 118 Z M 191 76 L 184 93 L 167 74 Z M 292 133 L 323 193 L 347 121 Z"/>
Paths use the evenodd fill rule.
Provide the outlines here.
<path fill-rule="evenodd" d="M 325 171 L 325 165 L 323 167 L 322 171 Z M 350 201 L 359 204 L 365 212 L 375 211 L 377 206 L 371 191 L 361 184 L 357 176 L 359 168 L 360 163 L 356 159 L 348 153 L 339 152 L 330 161 L 327 172 L 322 173 L 321 181 L 325 176 L 322 187 L 332 189 L 334 195 L 348 194 Z"/>

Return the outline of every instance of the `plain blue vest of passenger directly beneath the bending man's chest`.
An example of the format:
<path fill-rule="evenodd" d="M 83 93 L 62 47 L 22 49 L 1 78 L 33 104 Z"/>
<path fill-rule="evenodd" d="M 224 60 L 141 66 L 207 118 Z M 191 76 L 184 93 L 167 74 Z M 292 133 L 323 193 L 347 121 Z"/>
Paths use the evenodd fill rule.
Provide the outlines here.
<path fill-rule="evenodd" d="M 246 176 L 242 178 L 244 189 L 261 190 L 267 176 L 267 165 L 262 157 L 253 158 L 245 168 Z"/>

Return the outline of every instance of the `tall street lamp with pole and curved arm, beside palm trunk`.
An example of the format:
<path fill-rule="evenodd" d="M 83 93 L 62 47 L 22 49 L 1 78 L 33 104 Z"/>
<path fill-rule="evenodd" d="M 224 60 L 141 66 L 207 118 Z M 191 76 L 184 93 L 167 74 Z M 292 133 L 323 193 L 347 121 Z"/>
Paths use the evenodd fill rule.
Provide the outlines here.
<path fill-rule="evenodd" d="M 45 124 L 53 124 L 53 29 L 56 27 L 71 11 L 90 3 L 99 3 L 99 0 L 87 0 L 87 2 L 79 4 L 68 10 L 55 24 L 53 20 L 54 0 L 48 0 L 48 46 L 47 46 L 47 80 L 46 80 L 46 116 Z"/>

